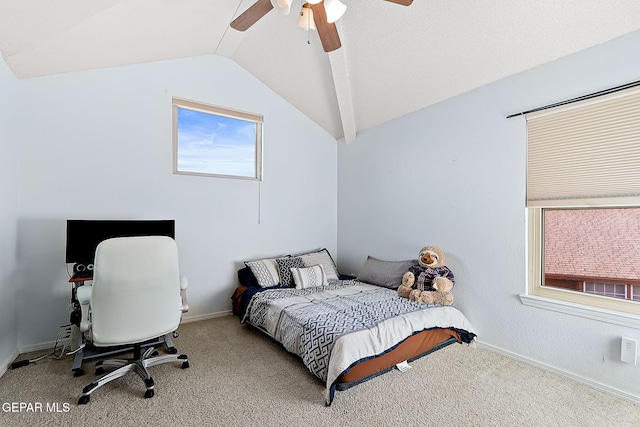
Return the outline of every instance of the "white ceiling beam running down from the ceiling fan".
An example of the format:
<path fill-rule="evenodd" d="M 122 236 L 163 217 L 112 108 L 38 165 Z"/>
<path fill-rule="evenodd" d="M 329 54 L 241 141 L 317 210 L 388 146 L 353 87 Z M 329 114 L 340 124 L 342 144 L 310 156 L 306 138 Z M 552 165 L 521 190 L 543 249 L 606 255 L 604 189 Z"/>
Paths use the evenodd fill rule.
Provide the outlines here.
<path fill-rule="evenodd" d="M 346 46 L 343 45 L 341 49 L 329 52 L 327 55 L 329 55 L 329 64 L 333 75 L 338 109 L 340 110 L 344 140 L 348 144 L 356 139 L 356 121 L 353 113 L 353 97 L 351 96 L 351 84 L 345 52 Z"/>

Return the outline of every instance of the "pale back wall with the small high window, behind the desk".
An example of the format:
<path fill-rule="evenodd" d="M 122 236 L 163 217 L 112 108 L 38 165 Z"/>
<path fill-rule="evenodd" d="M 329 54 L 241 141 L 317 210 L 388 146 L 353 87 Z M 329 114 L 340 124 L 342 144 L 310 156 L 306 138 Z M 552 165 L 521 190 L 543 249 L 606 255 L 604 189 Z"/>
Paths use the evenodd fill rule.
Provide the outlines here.
<path fill-rule="evenodd" d="M 187 318 L 230 310 L 244 260 L 336 252 L 335 139 L 226 58 L 27 79 L 19 96 L 21 348 L 68 322 L 67 219 L 175 219 Z M 172 174 L 172 96 L 263 114 L 264 181 Z"/>

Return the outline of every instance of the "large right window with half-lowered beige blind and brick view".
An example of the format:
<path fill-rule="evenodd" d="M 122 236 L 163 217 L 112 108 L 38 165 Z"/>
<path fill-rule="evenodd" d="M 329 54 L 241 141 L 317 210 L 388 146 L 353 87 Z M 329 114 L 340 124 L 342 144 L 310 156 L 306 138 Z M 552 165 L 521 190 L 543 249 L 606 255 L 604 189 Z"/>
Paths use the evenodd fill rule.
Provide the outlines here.
<path fill-rule="evenodd" d="M 526 119 L 528 294 L 640 315 L 640 87 Z"/>

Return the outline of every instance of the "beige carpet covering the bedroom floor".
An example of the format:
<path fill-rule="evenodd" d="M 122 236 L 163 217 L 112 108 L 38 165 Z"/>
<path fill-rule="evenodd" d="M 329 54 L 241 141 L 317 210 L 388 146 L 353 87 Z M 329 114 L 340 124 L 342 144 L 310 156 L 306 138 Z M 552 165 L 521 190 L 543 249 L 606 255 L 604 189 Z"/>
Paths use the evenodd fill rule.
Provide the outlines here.
<path fill-rule="evenodd" d="M 638 405 L 467 345 L 336 392 L 325 407 L 324 385 L 236 317 L 188 323 L 180 334 L 175 343 L 191 367 L 151 368 L 152 399 L 130 374 L 77 406 L 95 377 L 87 363 L 87 374 L 74 378 L 70 357 L 8 370 L 0 378 L 0 425 L 640 426 Z M 12 402 L 39 403 L 42 412 L 7 412 Z"/>

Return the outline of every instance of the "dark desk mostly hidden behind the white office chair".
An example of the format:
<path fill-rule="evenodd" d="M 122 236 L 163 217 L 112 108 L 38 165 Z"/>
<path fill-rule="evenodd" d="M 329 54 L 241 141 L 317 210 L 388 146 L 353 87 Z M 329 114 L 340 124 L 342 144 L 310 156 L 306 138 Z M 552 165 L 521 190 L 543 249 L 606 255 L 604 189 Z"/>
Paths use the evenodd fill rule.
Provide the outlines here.
<path fill-rule="evenodd" d="M 84 339 L 84 334 L 80 331 L 80 320 L 82 318 L 80 302 L 78 301 L 78 288 L 80 286 L 88 286 L 86 282 L 91 282 L 93 277 L 76 277 L 73 276 L 69 279 L 71 283 L 71 304 L 73 305 L 73 311 L 71 312 L 70 322 L 78 328 L 78 336 L 76 338 L 76 349 L 79 349 L 75 353 L 73 358 L 73 365 L 71 365 L 71 372 L 74 377 L 80 377 L 84 375 L 82 369 L 82 363 L 85 360 L 104 359 L 108 356 L 115 354 L 128 353 L 133 351 L 132 345 L 124 345 L 117 347 L 96 347 L 91 342 Z M 163 337 L 158 337 L 153 340 L 146 341 L 142 344 L 142 347 L 158 346 L 165 344 L 167 350 L 171 354 L 175 354 L 178 350 L 173 345 L 171 334 L 166 334 Z"/>

